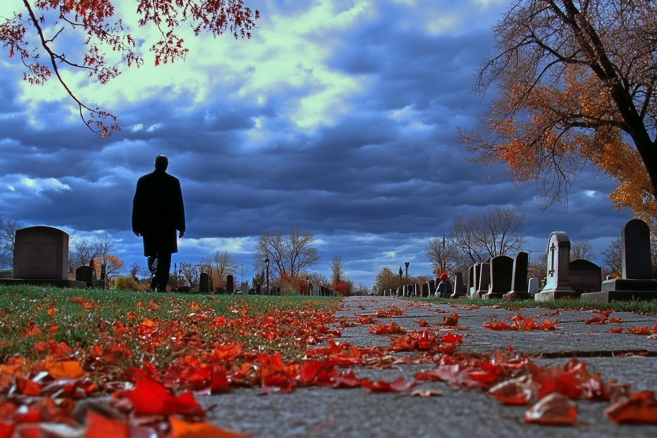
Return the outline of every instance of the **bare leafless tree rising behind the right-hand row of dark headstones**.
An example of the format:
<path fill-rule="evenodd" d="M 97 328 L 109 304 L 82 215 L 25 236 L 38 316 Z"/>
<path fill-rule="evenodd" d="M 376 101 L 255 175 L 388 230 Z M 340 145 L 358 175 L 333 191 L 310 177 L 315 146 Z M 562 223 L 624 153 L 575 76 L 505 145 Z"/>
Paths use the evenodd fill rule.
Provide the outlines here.
<path fill-rule="evenodd" d="M 451 245 L 459 253 L 456 263 L 465 272 L 464 267 L 473 263 L 522 251 L 527 243 L 520 235 L 524 220 L 524 214 L 510 207 L 458 216 L 447 233 Z"/>

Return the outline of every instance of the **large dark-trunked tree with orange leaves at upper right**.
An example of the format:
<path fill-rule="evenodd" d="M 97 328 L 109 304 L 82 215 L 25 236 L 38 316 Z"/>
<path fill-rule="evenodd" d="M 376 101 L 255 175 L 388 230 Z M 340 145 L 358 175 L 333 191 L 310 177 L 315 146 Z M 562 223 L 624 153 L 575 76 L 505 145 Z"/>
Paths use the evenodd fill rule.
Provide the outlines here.
<path fill-rule="evenodd" d="M 568 200 L 586 165 L 609 195 L 657 213 L 657 7 L 653 0 L 519 0 L 493 28 L 496 53 L 475 90 L 499 89 L 487 117 L 460 132 L 475 161 L 535 181 L 547 208 Z"/>

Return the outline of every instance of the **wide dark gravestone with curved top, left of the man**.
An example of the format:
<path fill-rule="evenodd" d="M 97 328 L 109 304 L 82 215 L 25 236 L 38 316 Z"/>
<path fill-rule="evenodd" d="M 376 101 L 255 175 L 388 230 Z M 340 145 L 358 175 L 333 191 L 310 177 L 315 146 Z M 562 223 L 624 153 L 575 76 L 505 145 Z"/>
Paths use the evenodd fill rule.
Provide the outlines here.
<path fill-rule="evenodd" d="M 53 227 L 16 230 L 13 277 L 0 279 L 0 284 L 87 287 L 86 282 L 68 279 L 68 234 Z"/>

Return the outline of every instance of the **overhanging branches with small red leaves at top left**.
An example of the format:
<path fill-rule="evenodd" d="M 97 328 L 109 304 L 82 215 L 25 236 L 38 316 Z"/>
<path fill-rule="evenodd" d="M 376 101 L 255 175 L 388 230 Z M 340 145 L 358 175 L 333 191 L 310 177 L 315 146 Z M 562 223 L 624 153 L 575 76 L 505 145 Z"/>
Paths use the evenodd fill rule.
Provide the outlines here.
<path fill-rule="evenodd" d="M 111 112 L 83 103 L 69 85 L 75 82 L 73 76 L 78 71 L 105 84 L 121 73 L 122 66 L 143 64 L 137 41 L 124 24 L 125 17 L 114 16 L 116 2 L 23 0 L 22 3 L 23 7 L 14 11 L 12 18 L 0 21 L 0 41 L 9 49 L 9 58 L 15 56 L 24 64 L 23 79 L 39 85 L 54 75 L 91 131 L 105 137 L 120 129 Z M 183 24 L 189 24 L 194 35 L 208 32 L 216 37 L 228 31 L 236 39 L 250 38 L 249 31 L 260 16 L 260 12 L 252 11 L 242 0 L 135 0 L 133 3 L 139 26 L 155 26 L 158 30 L 159 40 L 150 47 L 156 66 L 185 59 L 189 49 L 180 36 Z M 110 62 L 115 57 L 111 52 L 120 55 L 118 64 Z M 70 76 L 65 78 L 67 75 Z"/>

